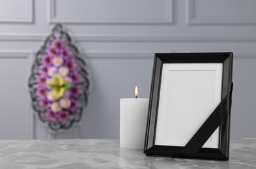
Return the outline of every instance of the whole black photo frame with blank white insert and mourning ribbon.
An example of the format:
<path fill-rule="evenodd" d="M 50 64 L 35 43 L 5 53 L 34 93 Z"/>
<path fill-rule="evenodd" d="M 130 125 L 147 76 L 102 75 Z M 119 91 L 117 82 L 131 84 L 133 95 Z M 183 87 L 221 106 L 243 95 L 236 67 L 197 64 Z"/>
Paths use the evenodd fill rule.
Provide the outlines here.
<path fill-rule="evenodd" d="M 146 155 L 229 160 L 233 53 L 156 53 Z"/>

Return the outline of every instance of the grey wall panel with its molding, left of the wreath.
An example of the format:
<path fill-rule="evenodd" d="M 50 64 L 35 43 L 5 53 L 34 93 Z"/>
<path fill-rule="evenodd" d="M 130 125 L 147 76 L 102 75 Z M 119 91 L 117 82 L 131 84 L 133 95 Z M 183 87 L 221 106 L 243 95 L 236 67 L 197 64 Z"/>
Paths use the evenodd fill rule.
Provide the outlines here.
<path fill-rule="evenodd" d="M 33 114 L 27 79 L 29 51 L 0 51 L 1 139 L 33 138 Z"/>

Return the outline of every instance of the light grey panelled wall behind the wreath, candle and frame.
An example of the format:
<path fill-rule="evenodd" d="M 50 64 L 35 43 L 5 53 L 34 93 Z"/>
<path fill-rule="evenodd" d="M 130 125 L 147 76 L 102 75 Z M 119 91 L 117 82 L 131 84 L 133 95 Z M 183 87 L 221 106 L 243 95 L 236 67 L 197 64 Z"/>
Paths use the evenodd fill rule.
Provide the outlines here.
<path fill-rule="evenodd" d="M 119 99 L 148 98 L 154 53 L 233 51 L 231 138 L 255 137 L 256 1 L 1 0 L 0 138 L 54 138 L 33 117 L 33 53 L 64 23 L 92 73 L 80 127 L 57 138 L 119 138 Z"/>

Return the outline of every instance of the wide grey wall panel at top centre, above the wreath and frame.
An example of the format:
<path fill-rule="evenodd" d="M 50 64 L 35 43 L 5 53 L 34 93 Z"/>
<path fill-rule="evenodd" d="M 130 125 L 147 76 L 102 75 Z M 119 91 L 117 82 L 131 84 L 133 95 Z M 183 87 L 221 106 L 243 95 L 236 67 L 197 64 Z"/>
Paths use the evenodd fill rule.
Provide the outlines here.
<path fill-rule="evenodd" d="M 50 0 L 51 23 L 171 23 L 172 0 Z"/>

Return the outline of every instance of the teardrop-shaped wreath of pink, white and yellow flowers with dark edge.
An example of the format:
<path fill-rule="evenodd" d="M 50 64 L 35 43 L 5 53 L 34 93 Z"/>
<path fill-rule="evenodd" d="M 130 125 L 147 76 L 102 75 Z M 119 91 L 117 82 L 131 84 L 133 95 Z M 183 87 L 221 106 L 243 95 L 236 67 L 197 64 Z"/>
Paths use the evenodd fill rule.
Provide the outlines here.
<path fill-rule="evenodd" d="M 91 87 L 87 65 L 61 24 L 36 53 L 29 77 L 32 106 L 53 133 L 81 120 Z"/>

